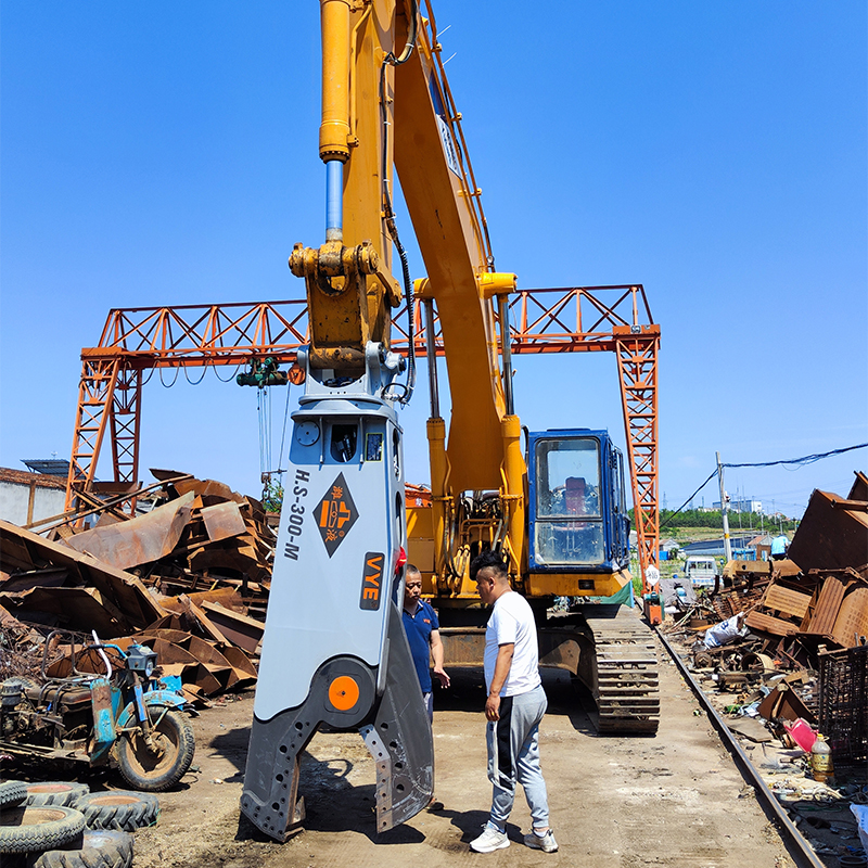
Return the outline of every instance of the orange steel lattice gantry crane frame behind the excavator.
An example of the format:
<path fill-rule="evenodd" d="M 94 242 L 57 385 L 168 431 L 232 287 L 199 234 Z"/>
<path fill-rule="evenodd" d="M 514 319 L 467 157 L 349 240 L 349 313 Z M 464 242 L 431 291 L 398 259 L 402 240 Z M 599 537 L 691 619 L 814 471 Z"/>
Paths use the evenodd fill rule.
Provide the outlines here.
<path fill-rule="evenodd" d="M 641 284 L 520 290 L 510 295 L 514 354 L 610 352 L 617 356 L 642 575 L 658 562 L 658 350 Z M 393 318 L 393 349 L 409 348 L 406 307 Z M 425 352 L 421 306 L 414 346 Z M 435 331 L 437 321 L 435 319 Z M 154 368 L 247 365 L 271 356 L 293 363 L 308 343 L 304 299 L 111 310 L 100 345 L 81 350 L 81 381 L 66 508 L 91 486 L 106 429 L 114 480 L 133 483 L 139 469 L 142 372 Z M 434 334 L 437 355 L 442 336 Z"/>

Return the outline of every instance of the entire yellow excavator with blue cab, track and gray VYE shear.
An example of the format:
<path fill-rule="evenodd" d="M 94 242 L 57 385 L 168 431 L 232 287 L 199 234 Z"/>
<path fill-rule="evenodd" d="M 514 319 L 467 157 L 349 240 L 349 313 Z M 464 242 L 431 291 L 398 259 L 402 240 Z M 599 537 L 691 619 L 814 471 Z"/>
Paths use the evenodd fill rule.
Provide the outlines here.
<path fill-rule="evenodd" d="M 487 613 L 469 564 L 490 548 L 537 614 L 541 662 L 587 684 L 600 728 L 652 732 L 659 716 L 651 631 L 631 610 L 610 602 L 549 612 L 556 597 L 629 597 L 623 462 L 601 430 L 523 439 L 510 357 L 516 277 L 495 271 L 431 8 L 320 8 L 326 240 L 296 244 L 290 257 L 305 280 L 310 342 L 297 359 L 305 392 L 293 413 L 241 803 L 277 840 L 303 822 L 299 755 L 322 727 L 365 739 L 376 762 L 379 831 L 431 797 L 431 729 L 399 613 L 408 557 L 439 610 L 450 664 L 482 661 Z M 427 270 L 414 283 L 393 208 L 393 166 Z M 408 359 L 391 345 L 401 299 Z M 416 385 L 414 299 L 430 353 L 431 489 L 406 508 L 396 410 Z"/>

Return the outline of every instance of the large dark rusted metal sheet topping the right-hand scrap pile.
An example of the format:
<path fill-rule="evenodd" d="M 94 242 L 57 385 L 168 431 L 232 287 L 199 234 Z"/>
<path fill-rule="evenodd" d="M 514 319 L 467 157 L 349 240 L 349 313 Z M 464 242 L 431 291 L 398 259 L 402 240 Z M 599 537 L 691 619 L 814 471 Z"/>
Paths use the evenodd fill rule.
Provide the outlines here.
<path fill-rule="evenodd" d="M 859 567 L 868 563 L 868 512 L 839 509 L 838 495 L 815 490 L 790 545 L 790 560 L 803 572 Z"/>

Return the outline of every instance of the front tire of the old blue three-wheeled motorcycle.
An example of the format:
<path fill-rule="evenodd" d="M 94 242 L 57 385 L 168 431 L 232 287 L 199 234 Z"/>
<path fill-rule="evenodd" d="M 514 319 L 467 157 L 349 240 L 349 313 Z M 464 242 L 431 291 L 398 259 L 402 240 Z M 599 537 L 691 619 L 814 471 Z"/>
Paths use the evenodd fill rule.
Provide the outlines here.
<path fill-rule="evenodd" d="M 163 755 L 152 753 L 137 732 L 125 733 L 117 742 L 115 756 L 124 780 L 135 790 L 156 793 L 174 787 L 190 768 L 196 750 L 193 727 L 176 711 L 149 707 L 152 733 L 163 748 Z"/>

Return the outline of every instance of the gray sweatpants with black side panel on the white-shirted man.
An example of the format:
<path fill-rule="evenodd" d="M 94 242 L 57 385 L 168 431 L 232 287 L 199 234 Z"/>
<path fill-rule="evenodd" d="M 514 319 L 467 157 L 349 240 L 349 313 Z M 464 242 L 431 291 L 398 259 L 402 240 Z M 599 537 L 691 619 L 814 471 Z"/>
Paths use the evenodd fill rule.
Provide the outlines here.
<path fill-rule="evenodd" d="M 546 713 L 546 692 L 539 686 L 516 697 L 502 697 L 500 719 L 486 725 L 488 780 L 494 787 L 490 824 L 501 832 L 521 783 L 534 828 L 549 825 L 546 781 L 539 768 L 539 722 Z"/>

